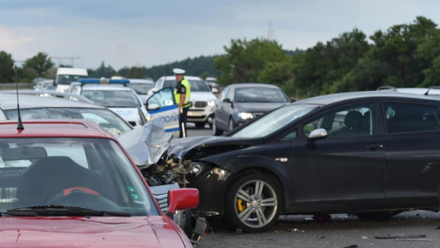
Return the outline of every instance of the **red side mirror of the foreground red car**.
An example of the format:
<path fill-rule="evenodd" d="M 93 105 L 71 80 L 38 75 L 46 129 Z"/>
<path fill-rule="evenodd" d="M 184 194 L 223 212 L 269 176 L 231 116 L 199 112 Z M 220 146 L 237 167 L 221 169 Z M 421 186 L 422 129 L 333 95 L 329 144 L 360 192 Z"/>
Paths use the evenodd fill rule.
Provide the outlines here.
<path fill-rule="evenodd" d="M 192 209 L 199 206 L 199 190 L 193 188 L 172 189 L 168 192 L 168 212 Z"/>

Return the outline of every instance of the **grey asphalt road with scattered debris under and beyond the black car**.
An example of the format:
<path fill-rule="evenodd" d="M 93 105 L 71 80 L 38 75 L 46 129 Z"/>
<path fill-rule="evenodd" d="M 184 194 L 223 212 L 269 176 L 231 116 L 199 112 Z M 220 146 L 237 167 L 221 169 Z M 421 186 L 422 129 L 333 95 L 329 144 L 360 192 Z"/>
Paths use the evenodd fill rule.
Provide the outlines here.
<path fill-rule="evenodd" d="M 212 135 L 208 125 L 196 129 L 188 123 L 188 136 L 201 135 Z M 210 227 L 198 247 L 440 247 L 440 214 L 406 211 L 382 221 L 335 214 L 325 222 L 314 220 L 313 216 L 281 216 L 270 231 L 261 234 L 242 234 L 221 225 Z"/>

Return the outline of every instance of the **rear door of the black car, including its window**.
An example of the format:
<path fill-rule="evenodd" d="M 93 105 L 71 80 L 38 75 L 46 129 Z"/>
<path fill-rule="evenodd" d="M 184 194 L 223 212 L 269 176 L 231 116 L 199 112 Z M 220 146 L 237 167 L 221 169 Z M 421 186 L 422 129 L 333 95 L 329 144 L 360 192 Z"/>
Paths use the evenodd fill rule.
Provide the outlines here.
<path fill-rule="evenodd" d="M 385 198 L 438 200 L 440 112 L 436 105 L 384 102 Z"/>

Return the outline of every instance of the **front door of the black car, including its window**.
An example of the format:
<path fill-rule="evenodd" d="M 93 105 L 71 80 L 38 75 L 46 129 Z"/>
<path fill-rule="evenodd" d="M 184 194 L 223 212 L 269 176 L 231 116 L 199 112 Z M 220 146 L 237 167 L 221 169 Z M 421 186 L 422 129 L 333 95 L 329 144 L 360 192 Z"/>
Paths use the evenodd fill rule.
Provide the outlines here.
<path fill-rule="evenodd" d="M 296 205 L 383 200 L 384 150 L 376 123 L 376 104 L 340 107 L 301 125 L 302 141 L 292 143 L 292 181 Z M 328 136 L 308 143 L 309 132 Z M 307 145 L 306 145 L 307 144 Z"/>

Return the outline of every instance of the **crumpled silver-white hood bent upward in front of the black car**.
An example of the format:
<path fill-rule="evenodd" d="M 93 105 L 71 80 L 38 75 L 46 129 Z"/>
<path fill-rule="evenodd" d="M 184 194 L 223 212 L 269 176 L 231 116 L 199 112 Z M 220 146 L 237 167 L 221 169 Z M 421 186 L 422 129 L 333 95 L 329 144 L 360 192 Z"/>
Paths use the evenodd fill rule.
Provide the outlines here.
<path fill-rule="evenodd" d="M 150 166 L 159 161 L 170 147 L 172 132 L 165 132 L 162 118 L 155 117 L 141 128 L 117 137 L 137 166 Z"/>

